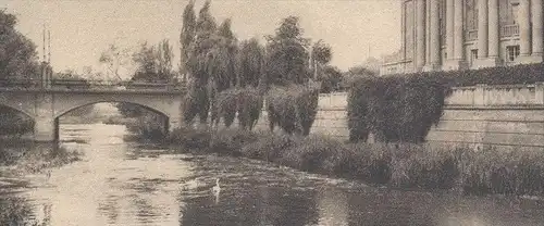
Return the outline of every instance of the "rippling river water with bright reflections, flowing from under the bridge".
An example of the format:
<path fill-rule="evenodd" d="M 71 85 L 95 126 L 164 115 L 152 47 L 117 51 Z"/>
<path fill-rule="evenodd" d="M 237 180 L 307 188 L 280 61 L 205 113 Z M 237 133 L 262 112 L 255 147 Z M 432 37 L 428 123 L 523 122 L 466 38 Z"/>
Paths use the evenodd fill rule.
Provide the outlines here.
<path fill-rule="evenodd" d="M 0 184 L 1 199 L 28 206 L 22 217 L 54 226 L 544 225 L 544 202 L 534 198 L 391 190 L 252 160 L 175 153 L 125 135 L 119 125 L 61 125 L 61 145 L 81 150 L 83 160 L 17 178 L 24 186 Z M 220 192 L 212 191 L 215 178 Z"/>

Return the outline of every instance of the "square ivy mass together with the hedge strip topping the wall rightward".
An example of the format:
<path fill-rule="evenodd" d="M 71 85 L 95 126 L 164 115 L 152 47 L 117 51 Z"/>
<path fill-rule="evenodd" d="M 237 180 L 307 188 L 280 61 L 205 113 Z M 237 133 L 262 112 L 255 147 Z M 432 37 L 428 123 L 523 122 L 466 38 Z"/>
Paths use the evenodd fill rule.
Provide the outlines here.
<path fill-rule="evenodd" d="M 359 77 L 348 92 L 350 141 L 423 142 L 452 87 L 544 81 L 544 64 Z"/>

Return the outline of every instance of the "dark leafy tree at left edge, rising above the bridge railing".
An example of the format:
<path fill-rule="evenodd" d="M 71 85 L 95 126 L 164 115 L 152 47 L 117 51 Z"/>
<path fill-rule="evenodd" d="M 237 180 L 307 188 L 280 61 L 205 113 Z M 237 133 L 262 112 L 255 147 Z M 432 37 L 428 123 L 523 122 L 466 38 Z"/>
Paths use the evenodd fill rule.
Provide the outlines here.
<path fill-rule="evenodd" d="M 36 46 L 15 29 L 17 18 L 0 11 L 0 79 L 38 78 Z"/>

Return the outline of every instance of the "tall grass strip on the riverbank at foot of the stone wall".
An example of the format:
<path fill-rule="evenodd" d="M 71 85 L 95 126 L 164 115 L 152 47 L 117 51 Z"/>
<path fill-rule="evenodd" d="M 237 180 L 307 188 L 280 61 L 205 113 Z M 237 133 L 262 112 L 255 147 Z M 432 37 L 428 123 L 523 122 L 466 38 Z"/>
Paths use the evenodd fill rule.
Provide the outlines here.
<path fill-rule="evenodd" d="M 213 137 L 213 139 L 212 139 Z M 201 153 L 245 156 L 335 177 L 397 188 L 466 193 L 544 194 L 544 153 L 408 143 L 344 143 L 238 129 L 177 129 L 171 145 Z"/>

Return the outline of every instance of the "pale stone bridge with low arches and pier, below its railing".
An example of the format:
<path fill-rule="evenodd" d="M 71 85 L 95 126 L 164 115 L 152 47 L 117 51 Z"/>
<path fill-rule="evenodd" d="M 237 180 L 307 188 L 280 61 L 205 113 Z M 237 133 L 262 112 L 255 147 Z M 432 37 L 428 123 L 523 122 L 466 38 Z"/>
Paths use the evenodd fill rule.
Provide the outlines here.
<path fill-rule="evenodd" d="M 67 112 L 94 103 L 124 102 L 149 109 L 165 116 L 166 130 L 182 122 L 184 90 L 171 89 L 10 89 L 0 88 L 0 105 L 28 115 L 34 120 L 36 141 L 55 141 L 59 138 L 59 117 Z"/>

